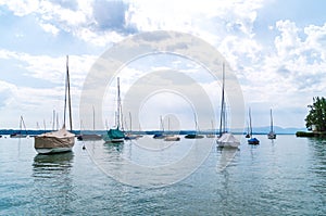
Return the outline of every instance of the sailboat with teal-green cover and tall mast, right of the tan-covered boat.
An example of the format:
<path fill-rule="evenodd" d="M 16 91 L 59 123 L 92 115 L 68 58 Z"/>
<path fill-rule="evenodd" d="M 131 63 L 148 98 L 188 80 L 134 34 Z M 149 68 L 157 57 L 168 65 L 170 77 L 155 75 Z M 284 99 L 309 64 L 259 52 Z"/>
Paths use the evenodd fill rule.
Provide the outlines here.
<path fill-rule="evenodd" d="M 116 104 L 116 128 L 111 128 L 103 136 L 105 142 L 123 142 L 125 139 L 125 134 L 121 130 L 121 114 L 122 105 L 120 98 L 120 78 L 117 77 L 117 104 Z"/>

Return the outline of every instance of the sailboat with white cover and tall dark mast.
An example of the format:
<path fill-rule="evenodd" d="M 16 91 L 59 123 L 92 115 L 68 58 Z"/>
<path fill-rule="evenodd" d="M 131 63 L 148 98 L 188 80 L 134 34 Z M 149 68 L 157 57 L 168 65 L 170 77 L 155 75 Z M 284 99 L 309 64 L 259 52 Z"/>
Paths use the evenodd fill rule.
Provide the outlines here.
<path fill-rule="evenodd" d="M 240 141 L 231 134 L 226 131 L 226 110 L 225 110 L 225 65 L 223 63 L 223 82 L 222 82 L 222 102 L 221 102 L 221 118 L 220 118 L 220 137 L 216 142 L 220 148 L 238 148 Z"/>

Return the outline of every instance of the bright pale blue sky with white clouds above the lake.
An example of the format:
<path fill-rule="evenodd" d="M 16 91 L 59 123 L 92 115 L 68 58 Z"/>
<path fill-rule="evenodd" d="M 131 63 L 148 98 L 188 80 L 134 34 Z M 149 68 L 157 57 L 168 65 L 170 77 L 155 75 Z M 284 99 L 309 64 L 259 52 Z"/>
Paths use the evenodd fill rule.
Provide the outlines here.
<path fill-rule="evenodd" d="M 53 111 L 62 123 L 68 55 L 73 125 L 89 129 L 89 120 L 83 126 L 85 114 L 79 115 L 80 96 L 97 60 L 115 45 L 155 30 L 190 34 L 213 46 L 233 69 L 242 110 L 251 109 L 254 127 L 268 126 L 273 109 L 275 125 L 302 128 L 313 97 L 326 93 L 325 8 L 324 0 L 1 0 L 0 128 L 18 128 L 23 116 L 27 128 L 50 129 Z M 195 88 L 204 90 L 215 113 L 200 111 L 206 115 L 200 116 L 199 127 L 211 128 L 213 122 L 216 128 L 221 80 L 185 58 L 158 54 L 125 65 L 118 72 L 122 101 L 136 84 L 145 85 L 143 77 L 159 80 L 172 71 L 187 74 L 199 85 Z M 104 89 L 96 129 L 115 125 L 116 80 Z M 165 128 L 170 118 L 172 129 L 196 127 L 198 116 L 193 117 L 187 97 L 177 92 L 142 92 L 142 97 L 139 110 L 124 111 L 125 125 L 129 116 L 137 116 L 134 129 L 159 129 L 163 115 Z M 227 104 L 229 113 L 233 109 Z"/>

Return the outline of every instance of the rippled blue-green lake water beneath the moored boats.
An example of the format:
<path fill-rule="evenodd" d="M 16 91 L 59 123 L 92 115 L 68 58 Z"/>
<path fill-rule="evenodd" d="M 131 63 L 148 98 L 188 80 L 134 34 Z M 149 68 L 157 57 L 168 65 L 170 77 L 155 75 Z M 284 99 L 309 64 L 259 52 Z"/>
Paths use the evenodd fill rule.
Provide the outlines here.
<path fill-rule="evenodd" d="M 326 215 L 326 140 L 256 137 L 238 151 L 141 138 L 57 155 L 0 138 L 0 215 Z"/>

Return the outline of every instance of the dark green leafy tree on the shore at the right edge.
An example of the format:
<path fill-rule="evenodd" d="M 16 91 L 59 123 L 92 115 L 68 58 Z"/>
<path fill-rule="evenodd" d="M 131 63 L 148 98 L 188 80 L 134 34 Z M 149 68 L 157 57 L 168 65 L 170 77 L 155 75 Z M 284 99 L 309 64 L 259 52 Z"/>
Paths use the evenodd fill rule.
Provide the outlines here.
<path fill-rule="evenodd" d="M 308 105 L 310 109 L 305 117 L 305 127 L 309 130 L 326 131 L 326 99 L 324 97 L 313 98 L 313 104 Z"/>

